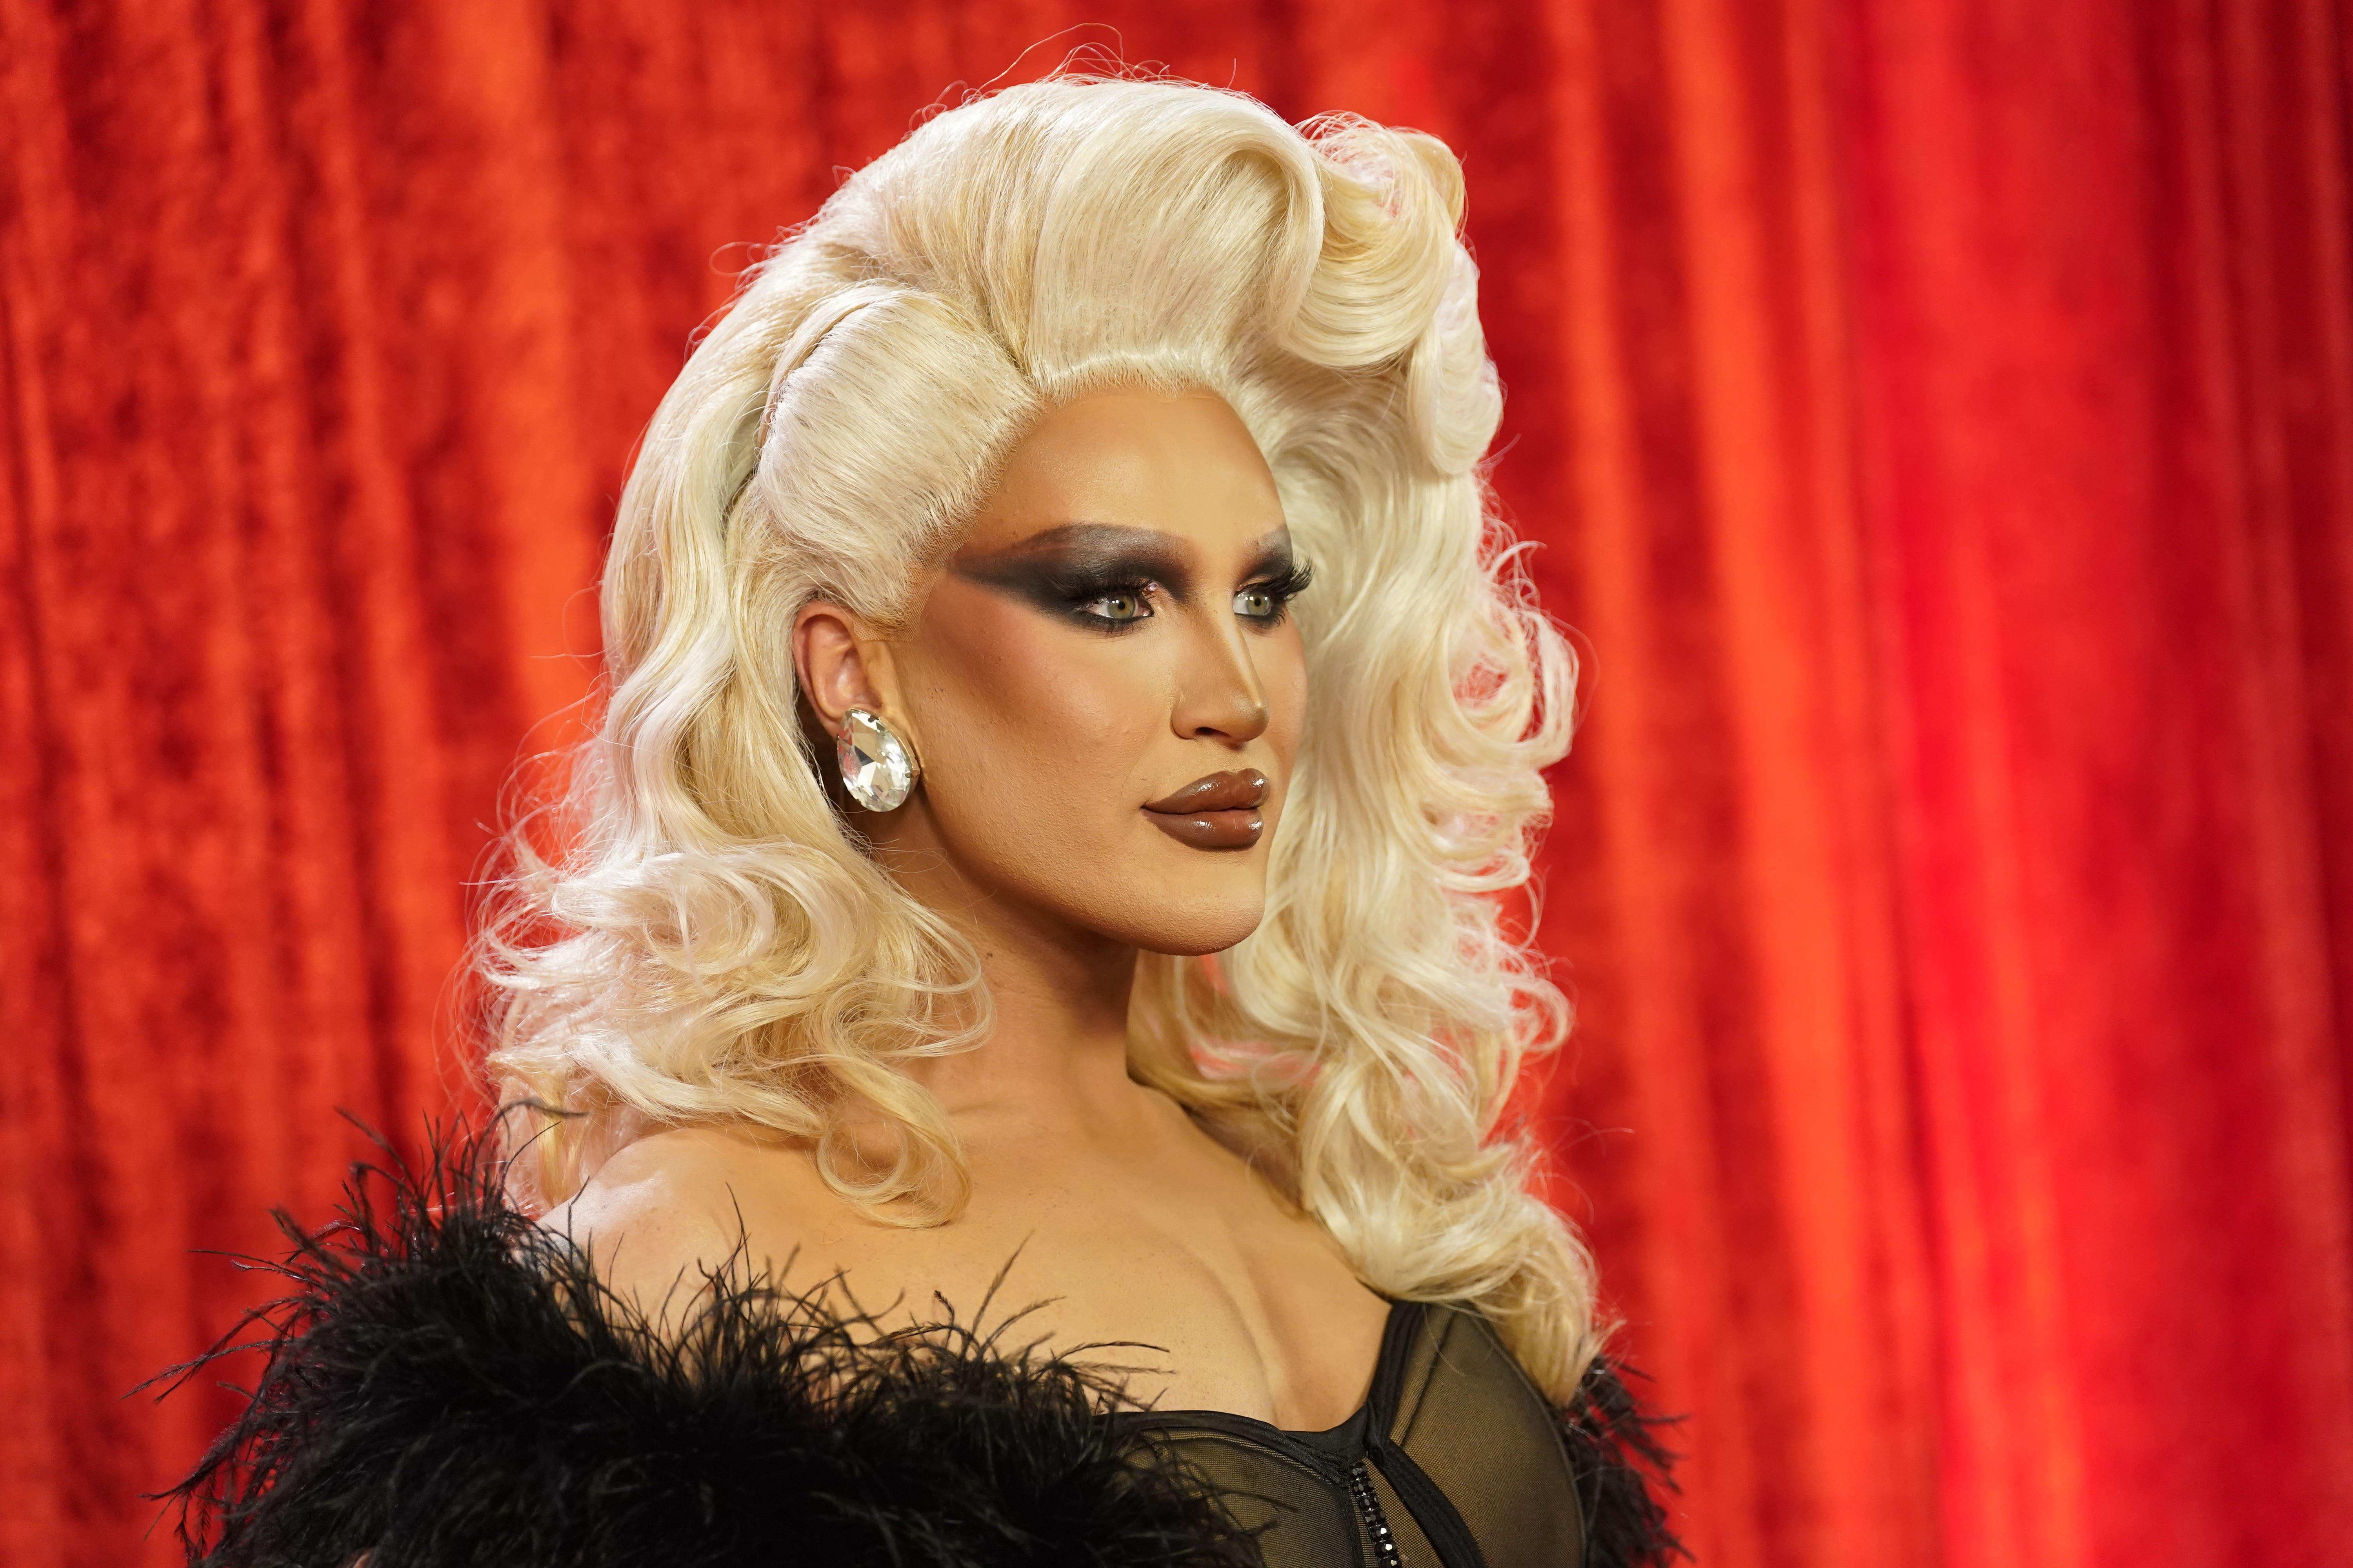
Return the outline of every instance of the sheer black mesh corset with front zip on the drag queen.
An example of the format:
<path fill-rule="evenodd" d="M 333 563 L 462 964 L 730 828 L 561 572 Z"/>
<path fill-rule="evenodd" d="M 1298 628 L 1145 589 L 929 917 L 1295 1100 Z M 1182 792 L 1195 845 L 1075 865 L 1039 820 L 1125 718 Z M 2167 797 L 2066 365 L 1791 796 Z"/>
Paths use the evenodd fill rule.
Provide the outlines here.
<path fill-rule="evenodd" d="M 1584 1519 L 1553 1410 L 1494 1328 L 1398 1302 L 1365 1406 L 1329 1432 L 1134 1410 L 1120 1434 L 1259 1528 L 1266 1568 L 1574 1568 Z"/>

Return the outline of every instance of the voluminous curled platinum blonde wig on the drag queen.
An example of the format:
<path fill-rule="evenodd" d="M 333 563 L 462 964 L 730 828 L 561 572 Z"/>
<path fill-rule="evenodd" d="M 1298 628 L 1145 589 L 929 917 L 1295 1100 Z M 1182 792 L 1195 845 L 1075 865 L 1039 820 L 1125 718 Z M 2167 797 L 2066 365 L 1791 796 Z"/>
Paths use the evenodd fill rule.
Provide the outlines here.
<path fill-rule="evenodd" d="M 1042 409 L 1205 388 L 1315 564 L 1311 712 L 1266 919 L 1144 959 L 1132 1070 L 1271 1152 L 1369 1286 L 1475 1305 L 1565 1396 L 1591 1269 L 1499 1119 L 1567 1016 L 1494 896 L 1527 879 L 1574 672 L 1487 512 L 1461 200 L 1431 136 L 1101 78 L 969 101 L 849 176 L 647 430 L 576 844 L 518 846 L 482 943 L 494 1077 L 588 1126 L 767 1124 L 880 1218 L 951 1218 L 955 1138 L 896 1065 L 986 1037 L 979 959 L 828 804 L 788 630 L 816 595 L 904 623 Z M 892 1166 L 847 1159 L 845 1107 L 899 1128 Z"/>

